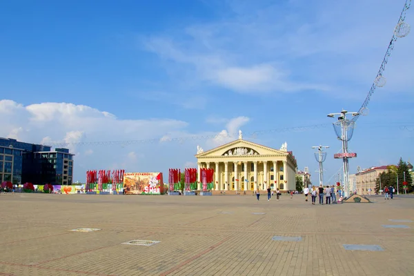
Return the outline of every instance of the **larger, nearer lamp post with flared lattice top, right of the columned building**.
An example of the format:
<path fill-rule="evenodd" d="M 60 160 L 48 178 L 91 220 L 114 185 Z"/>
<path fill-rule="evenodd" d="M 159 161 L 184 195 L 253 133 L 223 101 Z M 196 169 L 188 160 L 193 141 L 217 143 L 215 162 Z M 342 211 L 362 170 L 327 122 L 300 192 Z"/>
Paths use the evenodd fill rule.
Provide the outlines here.
<path fill-rule="evenodd" d="M 342 110 L 339 113 L 330 113 L 328 117 L 335 117 L 337 116 L 337 121 L 333 123 L 333 129 L 337 135 L 337 139 L 342 141 L 342 153 L 337 153 L 333 155 L 335 159 L 341 159 L 344 163 L 344 195 L 345 197 L 349 197 L 349 166 L 348 166 L 348 159 L 352 157 L 357 157 L 356 153 L 348 152 L 348 141 L 351 140 L 353 135 L 353 129 L 355 127 L 355 121 L 346 119 L 346 115 L 358 116 L 358 112 L 348 112 L 346 110 Z"/>

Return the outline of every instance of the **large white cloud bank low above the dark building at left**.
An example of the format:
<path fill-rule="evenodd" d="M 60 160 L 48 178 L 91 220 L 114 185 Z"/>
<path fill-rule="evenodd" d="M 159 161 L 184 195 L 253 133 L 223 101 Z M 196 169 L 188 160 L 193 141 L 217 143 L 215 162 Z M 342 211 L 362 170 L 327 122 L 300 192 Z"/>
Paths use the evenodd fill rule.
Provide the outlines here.
<path fill-rule="evenodd" d="M 3 122 L 0 137 L 46 145 L 59 143 L 54 147 L 69 148 L 75 153 L 75 166 L 83 164 L 82 168 L 75 167 L 75 180 L 80 181 L 83 181 L 85 169 L 108 168 L 118 164 L 125 169 L 137 170 L 137 162 L 146 154 L 138 154 L 135 149 L 144 146 L 142 150 L 150 152 L 154 148 L 141 140 L 161 137 L 166 132 L 185 132 L 188 126 L 185 121 L 175 119 L 118 119 L 109 112 L 72 103 L 23 106 L 14 101 L 1 100 L 0 114 Z M 121 145 L 110 141 L 132 142 Z M 94 150 L 83 148 L 90 142 L 94 142 Z M 132 160 L 135 160 L 134 164 Z"/>

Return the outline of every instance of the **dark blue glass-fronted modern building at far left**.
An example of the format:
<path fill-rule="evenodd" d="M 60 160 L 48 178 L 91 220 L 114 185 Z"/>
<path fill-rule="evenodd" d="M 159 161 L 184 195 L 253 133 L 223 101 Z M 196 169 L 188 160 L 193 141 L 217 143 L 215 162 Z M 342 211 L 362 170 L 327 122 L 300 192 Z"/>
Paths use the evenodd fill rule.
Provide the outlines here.
<path fill-rule="evenodd" d="M 14 185 L 72 184 L 74 155 L 67 148 L 50 150 L 50 146 L 0 138 L 0 180 Z"/>

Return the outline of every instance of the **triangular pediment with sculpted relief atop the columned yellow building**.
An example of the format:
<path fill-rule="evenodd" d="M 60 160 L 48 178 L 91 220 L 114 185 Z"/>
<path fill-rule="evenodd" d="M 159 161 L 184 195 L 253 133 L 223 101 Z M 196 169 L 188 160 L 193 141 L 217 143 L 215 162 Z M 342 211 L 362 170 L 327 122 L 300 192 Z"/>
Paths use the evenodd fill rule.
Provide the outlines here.
<path fill-rule="evenodd" d="M 275 148 L 269 148 L 267 146 L 262 146 L 262 145 L 259 145 L 259 144 L 256 144 L 250 141 L 246 141 L 243 139 L 238 139 L 228 144 L 218 146 L 217 148 L 212 148 L 211 150 L 201 152 L 195 155 L 195 157 L 202 158 L 202 157 L 219 157 L 219 156 L 235 156 L 235 155 L 286 156 L 288 155 L 288 152 L 283 151 L 283 150 L 276 150 Z"/>

